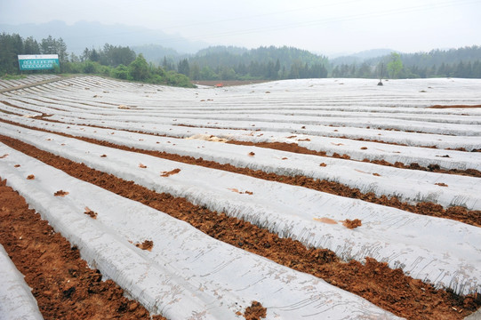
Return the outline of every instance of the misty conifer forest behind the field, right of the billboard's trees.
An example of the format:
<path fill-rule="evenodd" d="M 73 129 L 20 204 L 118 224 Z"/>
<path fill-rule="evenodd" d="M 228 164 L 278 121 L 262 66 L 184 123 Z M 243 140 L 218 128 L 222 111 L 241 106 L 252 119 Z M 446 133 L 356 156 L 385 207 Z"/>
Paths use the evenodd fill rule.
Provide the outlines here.
<path fill-rule="evenodd" d="M 448 51 L 391 52 L 362 62 L 336 64 L 323 56 L 291 47 L 245 48 L 217 46 L 196 55 L 164 57 L 165 69 L 177 69 L 192 80 L 277 80 L 324 77 L 358 78 L 481 78 L 481 47 Z"/>

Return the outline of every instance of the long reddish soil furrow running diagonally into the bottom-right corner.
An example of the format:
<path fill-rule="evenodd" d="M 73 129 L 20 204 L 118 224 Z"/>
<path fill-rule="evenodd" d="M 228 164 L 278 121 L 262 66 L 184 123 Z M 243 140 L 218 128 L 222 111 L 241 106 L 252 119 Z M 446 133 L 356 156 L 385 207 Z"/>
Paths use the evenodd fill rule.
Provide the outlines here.
<path fill-rule="evenodd" d="M 132 200 L 140 201 L 156 209 L 164 207 L 165 212 L 169 212 L 180 219 L 188 220 L 189 223 L 211 236 L 221 238 L 246 250 L 266 255 L 269 259 L 277 260 L 277 262 L 291 268 L 325 277 L 328 282 L 356 292 L 400 316 L 415 319 L 417 316 L 426 316 L 435 312 L 436 315 L 449 316 L 454 319 L 467 315 L 466 312 L 469 313 L 469 309 L 477 308 L 476 305 L 472 305 L 472 298 L 466 297 L 460 300 L 460 297 L 455 297 L 450 293 L 434 291 L 432 286 L 413 282 L 410 277 L 402 276 L 402 273 L 397 270 L 389 270 L 385 264 L 380 264 L 375 260 L 367 260 L 364 266 L 355 261 L 351 261 L 349 264 L 336 262 L 337 260 L 330 253 L 313 249 L 307 250 L 297 242 L 277 238 L 277 236 L 270 235 L 241 220 L 228 218 L 216 212 L 210 213 L 206 209 L 188 204 L 183 199 L 172 199 L 171 196 L 156 194 L 156 192 L 134 185 L 132 182 L 119 180 L 106 173 L 96 172 L 85 167 L 84 164 L 74 164 L 20 142 L 16 143 L 15 147 L 36 156 L 45 163 L 62 168 L 70 175 L 91 181 L 116 194 L 130 197 Z M 406 292 L 406 290 L 409 292 Z M 399 299 L 400 297 L 403 298 Z M 413 304 L 406 300 L 407 297 L 413 297 Z M 439 302 L 435 302 L 434 306 L 429 307 L 434 297 L 436 297 L 434 300 Z M 445 302 L 439 300 L 441 297 L 443 297 L 442 300 L 448 301 L 446 305 Z M 464 305 L 462 301 L 464 301 Z M 414 306 L 419 306 L 421 309 L 416 311 L 418 307 Z M 456 310 L 462 309 L 462 312 L 459 313 L 454 308 Z"/>

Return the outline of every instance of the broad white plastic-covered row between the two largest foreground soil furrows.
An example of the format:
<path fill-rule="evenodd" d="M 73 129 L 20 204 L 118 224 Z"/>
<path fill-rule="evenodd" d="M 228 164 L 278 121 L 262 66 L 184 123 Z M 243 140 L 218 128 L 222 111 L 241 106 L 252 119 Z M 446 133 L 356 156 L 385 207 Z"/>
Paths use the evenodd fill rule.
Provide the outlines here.
<path fill-rule="evenodd" d="M 321 279 L 221 243 L 12 148 L 1 145 L 0 152 L 8 154 L 0 169 L 7 184 L 92 267 L 153 313 L 172 319 L 239 319 L 251 301 L 260 300 L 268 318 L 397 318 Z M 28 174 L 35 180 L 25 179 Z M 60 189 L 68 195 L 54 196 Z M 85 207 L 98 213 L 96 220 L 84 214 Z M 153 241 L 151 252 L 134 245 L 145 240 Z"/>

